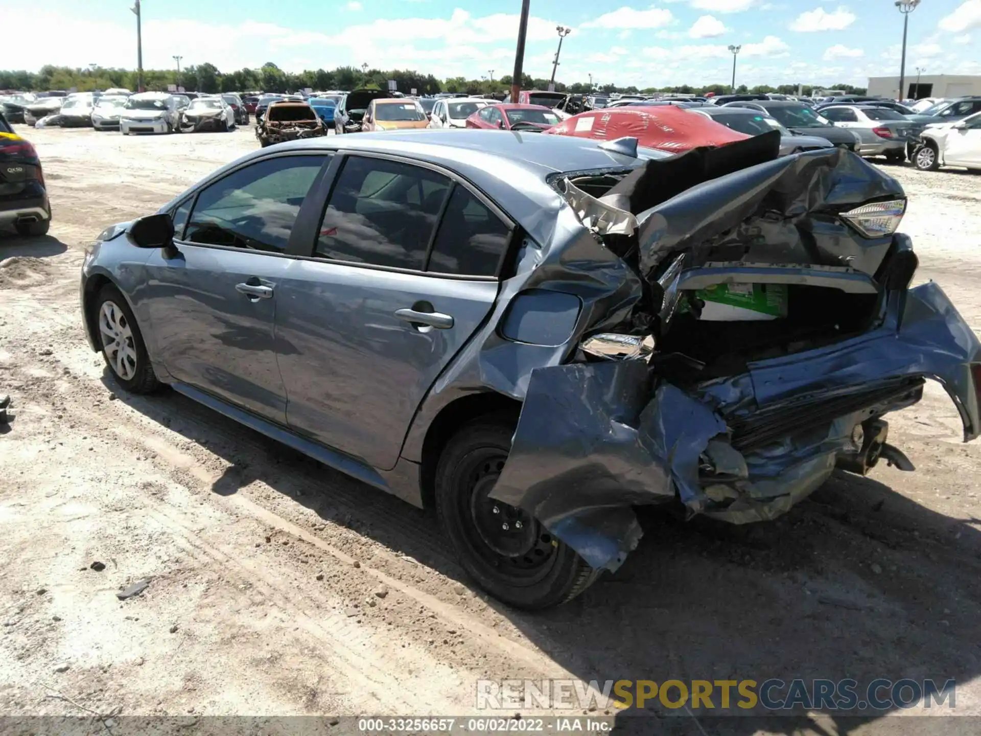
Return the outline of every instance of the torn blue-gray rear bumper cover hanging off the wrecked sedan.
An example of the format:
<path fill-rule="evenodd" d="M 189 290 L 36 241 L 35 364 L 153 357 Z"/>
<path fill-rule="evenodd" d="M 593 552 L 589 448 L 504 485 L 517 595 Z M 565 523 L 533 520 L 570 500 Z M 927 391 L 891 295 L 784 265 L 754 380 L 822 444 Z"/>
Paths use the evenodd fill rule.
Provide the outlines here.
<path fill-rule="evenodd" d="M 920 394 L 910 383 L 872 406 L 846 402 L 834 419 L 741 452 L 733 427 L 753 415 L 933 378 L 967 441 L 981 433 L 971 372 L 979 363 L 981 342 L 930 283 L 891 291 L 880 326 L 864 335 L 689 391 L 655 382 L 643 361 L 540 368 L 491 496 L 536 516 L 595 568 L 615 570 L 642 536 L 634 506 L 677 497 L 734 523 L 773 519 L 828 478 L 856 424 Z"/>

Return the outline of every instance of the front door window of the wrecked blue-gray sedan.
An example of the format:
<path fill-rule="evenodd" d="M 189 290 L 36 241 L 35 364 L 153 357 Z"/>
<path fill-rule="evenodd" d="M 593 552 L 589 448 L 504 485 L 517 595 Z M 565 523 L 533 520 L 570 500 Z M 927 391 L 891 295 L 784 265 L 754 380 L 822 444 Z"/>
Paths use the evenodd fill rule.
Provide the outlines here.
<path fill-rule="evenodd" d="M 326 156 L 259 161 L 198 194 L 184 239 L 282 253 Z"/>

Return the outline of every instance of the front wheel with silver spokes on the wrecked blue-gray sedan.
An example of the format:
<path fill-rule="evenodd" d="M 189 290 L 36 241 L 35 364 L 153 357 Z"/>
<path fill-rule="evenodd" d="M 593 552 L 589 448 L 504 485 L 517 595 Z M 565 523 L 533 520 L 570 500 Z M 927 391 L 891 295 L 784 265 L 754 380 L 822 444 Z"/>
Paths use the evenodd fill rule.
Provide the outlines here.
<path fill-rule="evenodd" d="M 150 394 L 160 388 L 136 318 L 120 290 L 103 287 L 92 310 L 102 342 L 102 357 L 116 382 L 130 394 Z"/>

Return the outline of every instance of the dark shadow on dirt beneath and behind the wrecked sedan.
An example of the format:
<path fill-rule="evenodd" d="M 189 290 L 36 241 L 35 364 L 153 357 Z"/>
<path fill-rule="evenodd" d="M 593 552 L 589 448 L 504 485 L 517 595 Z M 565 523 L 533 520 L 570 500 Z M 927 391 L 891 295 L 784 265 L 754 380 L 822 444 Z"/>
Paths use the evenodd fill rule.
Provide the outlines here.
<path fill-rule="evenodd" d="M 181 394 L 131 396 L 108 373 L 104 382 L 129 406 L 229 463 L 214 493 L 228 496 L 262 481 L 321 518 L 474 588 L 432 513 Z M 645 538 L 639 549 L 573 602 L 529 613 L 489 601 L 573 677 L 600 686 L 606 680 L 803 678 L 808 690 L 816 678 L 851 678 L 864 702 L 865 688 L 877 678 L 930 678 L 943 687 L 947 680 L 964 684 L 981 674 L 979 518 L 945 516 L 873 479 L 842 472 L 774 522 L 735 527 L 684 521 L 660 509 L 640 515 Z M 719 709 L 714 692 L 711 702 Z M 701 736 L 845 733 L 896 710 L 812 717 L 798 709 L 778 717 L 759 706 L 736 708 L 735 692 L 726 712 L 704 703 L 691 710 L 656 701 L 642 710 L 608 710 L 623 732 Z M 773 693 L 782 698 L 787 688 Z M 933 712 L 956 712 L 946 708 Z M 970 729 L 969 720 L 903 722 L 912 726 L 910 733 L 950 733 L 958 725 Z M 895 723 L 868 726 L 886 731 Z"/>

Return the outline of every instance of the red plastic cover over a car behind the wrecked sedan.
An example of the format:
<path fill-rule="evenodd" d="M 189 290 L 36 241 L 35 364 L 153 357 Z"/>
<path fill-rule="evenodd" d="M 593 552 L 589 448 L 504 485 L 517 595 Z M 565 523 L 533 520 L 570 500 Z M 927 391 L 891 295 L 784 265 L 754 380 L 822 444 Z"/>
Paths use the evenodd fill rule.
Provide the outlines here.
<path fill-rule="evenodd" d="M 592 110 L 574 115 L 544 132 L 596 140 L 616 140 L 629 135 L 647 148 L 671 153 L 750 137 L 675 105 Z"/>

